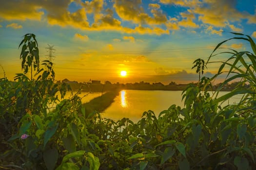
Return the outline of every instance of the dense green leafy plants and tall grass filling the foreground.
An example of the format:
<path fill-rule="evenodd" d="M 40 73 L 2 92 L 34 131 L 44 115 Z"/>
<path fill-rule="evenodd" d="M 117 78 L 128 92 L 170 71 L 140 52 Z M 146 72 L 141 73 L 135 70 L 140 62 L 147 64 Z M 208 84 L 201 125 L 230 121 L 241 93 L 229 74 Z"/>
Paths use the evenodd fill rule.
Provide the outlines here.
<path fill-rule="evenodd" d="M 250 36 L 236 35 L 229 40 L 249 42 L 253 52 L 227 51 L 225 53 L 231 57 L 221 62 L 218 73 L 213 78 L 200 78 L 202 66 L 209 64 L 215 55 L 221 55 L 223 52 L 215 52 L 229 40 L 219 43 L 206 64 L 197 60 L 202 63 L 194 66 L 198 67 L 199 83 L 191 84 L 183 91 L 184 107 L 172 105 L 158 117 L 149 110 L 137 123 L 126 118 L 118 121 L 102 119 L 98 113 L 87 113 L 76 94 L 63 99 L 69 88 L 54 83 L 49 61 L 44 61 L 44 69 L 37 65 L 36 80 L 17 74 L 18 82 L 12 84 L 2 78 L 0 168 L 254 169 L 256 45 Z M 31 37 L 35 40 L 33 34 L 25 35 L 24 39 Z M 25 40 L 21 44 L 23 42 Z M 29 70 L 29 67 L 32 65 L 28 63 L 25 69 Z M 211 82 L 225 73 L 226 80 L 216 92 L 211 92 Z M 240 78 L 237 87 L 218 97 L 221 88 L 237 78 Z M 245 83 L 250 84 L 249 88 L 244 88 Z M 236 94 L 244 94 L 240 102 L 220 106 Z"/>

